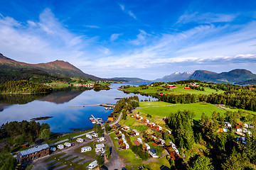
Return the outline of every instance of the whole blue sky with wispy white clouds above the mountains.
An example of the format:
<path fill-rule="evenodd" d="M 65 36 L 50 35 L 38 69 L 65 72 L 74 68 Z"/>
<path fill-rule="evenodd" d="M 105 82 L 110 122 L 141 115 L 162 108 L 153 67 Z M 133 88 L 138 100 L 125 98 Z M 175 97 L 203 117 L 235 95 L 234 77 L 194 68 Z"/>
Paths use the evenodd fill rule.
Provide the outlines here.
<path fill-rule="evenodd" d="M 256 1 L 1 1 L 0 52 L 97 77 L 256 73 Z"/>

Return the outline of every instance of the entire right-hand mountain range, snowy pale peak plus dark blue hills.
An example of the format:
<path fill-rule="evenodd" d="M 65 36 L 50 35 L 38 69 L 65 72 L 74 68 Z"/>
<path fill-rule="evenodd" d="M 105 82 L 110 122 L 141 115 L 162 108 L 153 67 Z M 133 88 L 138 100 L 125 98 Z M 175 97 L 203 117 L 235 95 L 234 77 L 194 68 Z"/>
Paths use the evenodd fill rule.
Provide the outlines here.
<path fill-rule="evenodd" d="M 169 76 L 165 76 L 161 79 L 156 79 L 155 81 L 180 81 L 186 79 L 198 79 L 200 81 L 207 81 L 213 83 L 224 83 L 224 84 L 252 84 L 250 79 L 256 79 L 256 74 L 253 74 L 247 69 L 233 69 L 230 72 L 209 72 L 207 70 L 196 70 L 194 72 L 175 72 Z M 245 81 L 245 82 L 244 82 Z"/>

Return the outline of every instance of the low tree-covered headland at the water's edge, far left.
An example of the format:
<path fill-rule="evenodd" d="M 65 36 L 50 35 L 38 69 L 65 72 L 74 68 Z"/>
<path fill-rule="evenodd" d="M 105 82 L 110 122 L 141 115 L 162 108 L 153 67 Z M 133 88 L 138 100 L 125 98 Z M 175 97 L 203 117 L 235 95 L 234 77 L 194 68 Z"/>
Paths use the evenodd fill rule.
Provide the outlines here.
<path fill-rule="evenodd" d="M 9 81 L 0 85 L 0 94 L 40 94 L 52 91 L 49 86 L 31 81 Z"/>

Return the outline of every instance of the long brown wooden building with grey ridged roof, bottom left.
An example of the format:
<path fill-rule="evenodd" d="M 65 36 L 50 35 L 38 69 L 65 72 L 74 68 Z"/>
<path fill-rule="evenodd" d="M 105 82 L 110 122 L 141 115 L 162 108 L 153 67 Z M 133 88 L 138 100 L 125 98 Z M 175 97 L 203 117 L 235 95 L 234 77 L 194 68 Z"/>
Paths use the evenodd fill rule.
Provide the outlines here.
<path fill-rule="evenodd" d="M 48 144 L 44 144 L 20 151 L 16 157 L 17 162 L 18 164 L 26 164 L 27 162 L 45 157 L 49 154 L 49 148 Z"/>

